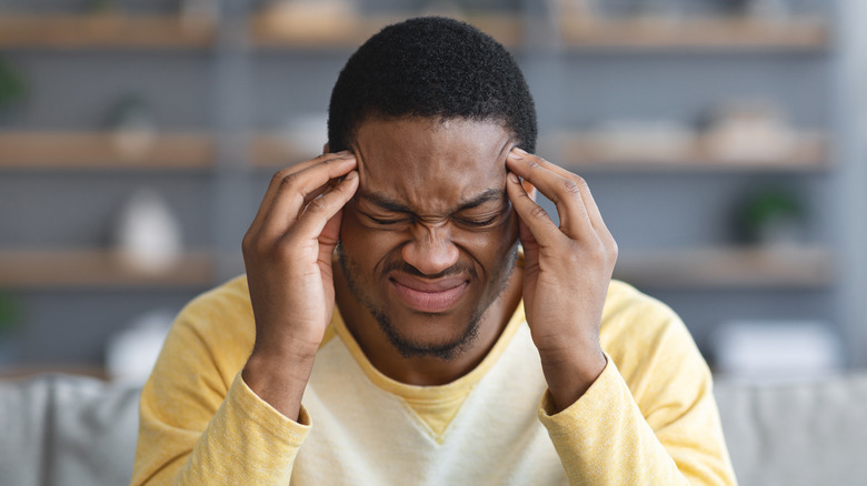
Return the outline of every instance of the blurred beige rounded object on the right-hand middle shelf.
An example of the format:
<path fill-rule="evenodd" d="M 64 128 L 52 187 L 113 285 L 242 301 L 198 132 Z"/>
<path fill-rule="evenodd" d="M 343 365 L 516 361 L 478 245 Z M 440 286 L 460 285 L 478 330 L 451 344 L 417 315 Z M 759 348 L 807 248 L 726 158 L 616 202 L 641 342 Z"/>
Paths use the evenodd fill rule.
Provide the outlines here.
<path fill-rule="evenodd" d="M 767 102 L 726 103 L 710 115 L 705 151 L 728 162 L 785 162 L 795 135 L 780 110 Z"/>

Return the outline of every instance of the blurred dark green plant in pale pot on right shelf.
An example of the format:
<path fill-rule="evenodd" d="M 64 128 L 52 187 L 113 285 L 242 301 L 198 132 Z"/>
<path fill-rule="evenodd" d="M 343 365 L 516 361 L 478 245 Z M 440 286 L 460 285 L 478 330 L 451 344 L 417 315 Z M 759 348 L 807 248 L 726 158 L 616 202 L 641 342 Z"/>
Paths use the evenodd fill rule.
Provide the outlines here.
<path fill-rule="evenodd" d="M 806 209 L 797 192 L 764 188 L 743 200 L 737 210 L 737 232 L 747 243 L 785 249 L 804 245 Z"/>

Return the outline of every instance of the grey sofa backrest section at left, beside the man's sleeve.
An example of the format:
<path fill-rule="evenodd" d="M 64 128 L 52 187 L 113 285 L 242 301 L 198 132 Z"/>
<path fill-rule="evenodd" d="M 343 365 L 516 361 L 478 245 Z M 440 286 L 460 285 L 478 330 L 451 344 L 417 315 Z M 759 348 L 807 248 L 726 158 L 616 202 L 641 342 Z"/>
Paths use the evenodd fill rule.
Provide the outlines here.
<path fill-rule="evenodd" d="M 0 484 L 129 484 L 140 386 L 70 375 L 0 382 Z"/>

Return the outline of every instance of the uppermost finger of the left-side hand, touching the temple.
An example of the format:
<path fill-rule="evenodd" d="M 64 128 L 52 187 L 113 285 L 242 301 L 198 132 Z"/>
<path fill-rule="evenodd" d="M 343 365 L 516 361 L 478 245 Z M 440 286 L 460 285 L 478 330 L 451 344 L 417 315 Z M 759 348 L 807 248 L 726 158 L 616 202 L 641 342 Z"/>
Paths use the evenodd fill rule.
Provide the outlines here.
<path fill-rule="evenodd" d="M 328 159 L 307 169 L 286 175 L 279 183 L 273 203 L 266 214 L 262 232 L 281 234 L 292 225 L 317 196 L 327 191 L 332 180 L 342 178 L 356 168 L 353 156 Z"/>

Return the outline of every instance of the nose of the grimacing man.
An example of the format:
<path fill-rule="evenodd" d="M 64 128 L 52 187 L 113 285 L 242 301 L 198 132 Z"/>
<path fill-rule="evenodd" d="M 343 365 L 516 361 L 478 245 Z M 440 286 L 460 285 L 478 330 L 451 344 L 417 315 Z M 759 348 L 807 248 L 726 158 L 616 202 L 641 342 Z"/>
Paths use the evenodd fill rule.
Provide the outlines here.
<path fill-rule="evenodd" d="M 425 275 L 436 275 L 458 263 L 458 247 L 451 241 L 448 224 L 417 223 L 412 240 L 403 245 L 403 261 Z"/>

